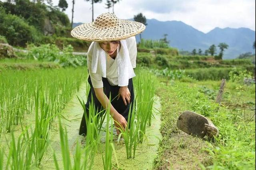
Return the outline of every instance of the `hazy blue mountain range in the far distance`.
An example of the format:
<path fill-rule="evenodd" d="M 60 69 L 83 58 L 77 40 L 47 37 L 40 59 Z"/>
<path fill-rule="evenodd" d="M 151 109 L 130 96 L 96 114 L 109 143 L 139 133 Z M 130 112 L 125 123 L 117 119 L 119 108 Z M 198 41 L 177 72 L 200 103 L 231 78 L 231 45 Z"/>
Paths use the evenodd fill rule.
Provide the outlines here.
<path fill-rule="evenodd" d="M 81 23 L 74 23 L 73 25 Z M 170 46 L 178 48 L 180 51 L 192 51 L 201 49 L 204 53 L 210 45 L 226 43 L 228 49 L 224 51 L 224 59 L 234 59 L 241 53 L 252 52 L 255 41 L 255 31 L 248 28 L 214 28 L 208 33 L 198 31 L 194 27 L 182 21 L 158 21 L 155 19 L 147 20 L 146 30 L 142 33 L 144 39 L 160 39 L 164 34 L 168 34 L 167 39 Z M 137 42 L 140 41 L 136 36 Z M 218 47 L 217 47 L 218 49 Z M 217 52 L 219 49 L 217 50 Z"/>

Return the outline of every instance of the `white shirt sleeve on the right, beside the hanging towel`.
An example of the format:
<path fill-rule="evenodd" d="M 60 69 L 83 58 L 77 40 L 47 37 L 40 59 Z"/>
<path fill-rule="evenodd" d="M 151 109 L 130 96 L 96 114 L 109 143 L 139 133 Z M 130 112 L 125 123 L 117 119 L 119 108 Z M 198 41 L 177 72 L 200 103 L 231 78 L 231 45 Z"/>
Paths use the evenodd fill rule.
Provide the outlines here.
<path fill-rule="evenodd" d="M 127 41 L 128 51 L 130 55 L 130 61 L 132 63 L 132 68 L 136 67 L 136 57 L 137 57 L 137 43 L 135 36 L 128 38 Z"/>

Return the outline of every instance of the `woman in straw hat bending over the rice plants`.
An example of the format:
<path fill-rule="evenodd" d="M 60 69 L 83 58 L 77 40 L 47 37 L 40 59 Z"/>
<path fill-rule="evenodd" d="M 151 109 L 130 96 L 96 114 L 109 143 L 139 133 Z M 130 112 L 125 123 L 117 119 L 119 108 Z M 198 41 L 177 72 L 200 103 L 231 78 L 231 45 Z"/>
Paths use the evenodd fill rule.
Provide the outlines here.
<path fill-rule="evenodd" d="M 134 35 L 144 29 L 142 23 L 120 20 L 112 13 L 104 13 L 94 22 L 79 25 L 71 31 L 73 37 L 93 41 L 87 53 L 90 92 L 86 114 L 93 98 L 98 111 L 110 106 L 116 128 L 126 128 L 129 108 L 132 109 L 134 102 L 132 78 L 137 55 Z M 118 129 L 117 133 L 120 133 Z M 84 114 L 79 135 L 86 135 Z"/>

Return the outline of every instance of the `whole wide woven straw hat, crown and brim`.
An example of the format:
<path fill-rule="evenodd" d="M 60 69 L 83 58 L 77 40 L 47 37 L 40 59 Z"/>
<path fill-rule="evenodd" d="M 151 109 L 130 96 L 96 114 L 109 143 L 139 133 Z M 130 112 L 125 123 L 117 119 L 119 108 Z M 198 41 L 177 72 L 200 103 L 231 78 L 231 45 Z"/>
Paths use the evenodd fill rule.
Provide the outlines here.
<path fill-rule="evenodd" d="M 120 20 L 108 12 L 98 16 L 94 22 L 78 25 L 71 31 L 71 35 L 86 41 L 114 41 L 137 35 L 145 28 L 143 23 Z"/>

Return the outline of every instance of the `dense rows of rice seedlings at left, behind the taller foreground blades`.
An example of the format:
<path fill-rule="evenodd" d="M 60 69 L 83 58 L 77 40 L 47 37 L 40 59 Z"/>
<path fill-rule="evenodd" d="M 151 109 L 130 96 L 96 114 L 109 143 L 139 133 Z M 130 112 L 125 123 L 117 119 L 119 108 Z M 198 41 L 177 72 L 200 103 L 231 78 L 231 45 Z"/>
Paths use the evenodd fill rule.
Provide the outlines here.
<path fill-rule="evenodd" d="M 85 68 L 56 70 L 4 70 L 0 74 L 0 122 L 6 132 L 34 112 L 34 94 L 41 86 L 49 103 L 49 114 L 60 112 L 87 77 Z M 81 71 L 82 70 L 82 71 Z M 70 74 L 72 72 L 72 74 Z M 84 72 L 86 74 L 84 74 Z M 54 121 L 54 118 L 53 118 Z M 51 123 L 49 124 L 51 126 Z"/>

